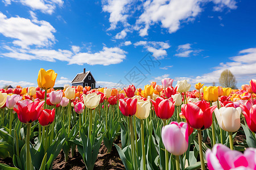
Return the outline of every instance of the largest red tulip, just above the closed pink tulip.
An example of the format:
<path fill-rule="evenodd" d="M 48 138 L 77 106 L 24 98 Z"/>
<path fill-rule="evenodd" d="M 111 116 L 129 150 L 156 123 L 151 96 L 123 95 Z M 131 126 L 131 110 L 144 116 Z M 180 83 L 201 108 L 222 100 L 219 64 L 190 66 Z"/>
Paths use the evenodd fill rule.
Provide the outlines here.
<path fill-rule="evenodd" d="M 197 101 L 182 105 L 181 112 L 188 124 L 198 130 L 204 130 L 212 125 L 212 113 L 217 105 L 210 107 L 207 101 Z"/>

